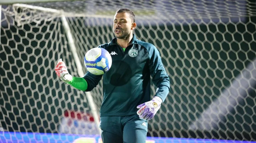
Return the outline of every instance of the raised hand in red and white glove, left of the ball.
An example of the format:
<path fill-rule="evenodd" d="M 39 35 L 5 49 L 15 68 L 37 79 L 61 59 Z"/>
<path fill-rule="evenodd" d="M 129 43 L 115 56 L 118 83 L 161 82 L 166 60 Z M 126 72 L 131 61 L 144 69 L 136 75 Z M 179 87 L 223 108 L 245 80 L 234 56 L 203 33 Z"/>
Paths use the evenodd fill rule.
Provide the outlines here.
<path fill-rule="evenodd" d="M 72 76 L 67 71 L 67 66 L 62 59 L 58 60 L 57 66 L 55 67 L 55 73 L 65 83 L 69 83 L 72 80 Z"/>

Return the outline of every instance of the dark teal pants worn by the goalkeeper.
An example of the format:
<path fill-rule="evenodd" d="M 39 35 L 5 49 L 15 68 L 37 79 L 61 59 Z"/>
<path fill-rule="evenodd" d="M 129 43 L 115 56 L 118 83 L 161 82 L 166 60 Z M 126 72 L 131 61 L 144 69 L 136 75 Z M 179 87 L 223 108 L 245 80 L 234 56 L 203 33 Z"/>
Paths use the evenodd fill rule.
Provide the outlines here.
<path fill-rule="evenodd" d="M 148 121 L 137 114 L 100 117 L 103 143 L 145 143 Z"/>

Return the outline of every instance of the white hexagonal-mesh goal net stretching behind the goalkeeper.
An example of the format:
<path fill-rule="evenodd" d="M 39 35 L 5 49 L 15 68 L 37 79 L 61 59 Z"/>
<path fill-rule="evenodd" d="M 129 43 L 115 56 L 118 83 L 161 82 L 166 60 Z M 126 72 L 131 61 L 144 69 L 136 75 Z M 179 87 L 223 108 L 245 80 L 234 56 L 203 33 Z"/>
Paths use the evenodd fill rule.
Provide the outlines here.
<path fill-rule="evenodd" d="M 54 68 L 62 58 L 71 75 L 85 73 L 86 51 L 110 42 L 115 11 L 130 8 L 135 35 L 158 48 L 170 76 L 171 90 L 149 120 L 148 136 L 256 140 L 255 4 L 92 0 L 2 5 L 0 127 L 97 134 L 92 110 L 99 112 L 102 81 L 90 92 L 94 110 L 90 96 L 60 81 Z M 152 84 L 152 96 L 155 89 Z M 77 124 L 63 127 L 71 118 Z"/>

